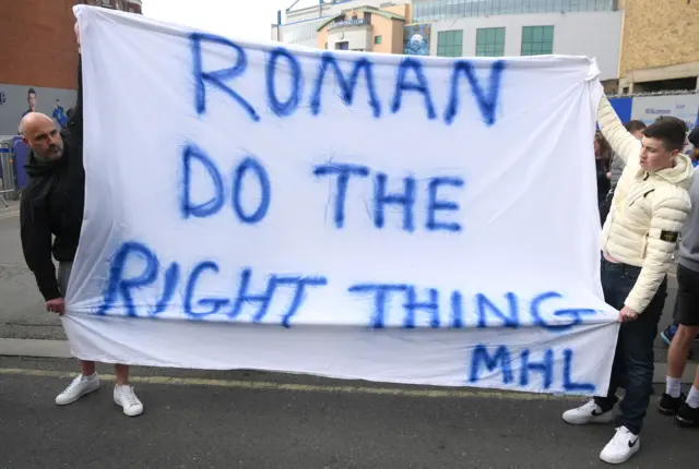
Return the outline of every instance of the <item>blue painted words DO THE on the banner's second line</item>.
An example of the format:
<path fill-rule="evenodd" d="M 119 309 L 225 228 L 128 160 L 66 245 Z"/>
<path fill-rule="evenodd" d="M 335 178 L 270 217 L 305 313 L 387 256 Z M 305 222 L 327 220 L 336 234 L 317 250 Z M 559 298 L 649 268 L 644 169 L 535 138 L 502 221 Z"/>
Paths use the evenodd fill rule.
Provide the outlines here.
<path fill-rule="evenodd" d="M 211 188 L 214 195 L 208 201 L 192 201 L 192 165 L 198 161 L 199 165 L 209 175 Z M 367 178 L 374 173 L 374 225 L 376 228 L 383 228 L 386 225 L 386 208 L 394 207 L 403 212 L 403 230 L 407 232 L 415 231 L 415 206 L 417 199 L 417 178 L 410 176 L 402 178 L 403 191 L 389 192 L 389 177 L 383 172 L 375 172 L 370 168 L 360 165 L 348 164 L 328 164 L 319 165 L 313 169 L 313 173 L 318 178 L 336 177 L 336 189 L 334 192 L 334 221 L 336 228 L 343 228 L 345 225 L 345 201 L 351 179 Z M 181 165 L 182 181 L 180 184 L 179 206 L 182 218 L 197 217 L 205 218 L 218 213 L 225 203 L 224 177 L 222 171 L 203 149 L 189 144 L 182 151 Z M 246 189 L 247 184 L 254 184 L 256 189 Z M 269 212 L 272 184 L 270 177 L 262 163 L 252 157 L 246 156 L 234 169 L 232 185 L 232 205 L 233 211 L 244 224 L 254 225 L 262 221 Z M 461 231 L 461 225 L 455 221 L 446 221 L 438 217 L 439 214 L 446 215 L 448 212 L 458 212 L 459 204 L 454 201 L 445 200 L 439 195 L 440 189 L 447 191 L 449 188 L 461 189 L 464 181 L 458 177 L 440 176 L 430 178 L 427 181 L 427 206 L 424 211 L 427 214 L 425 228 L 428 231 Z M 258 205 L 253 208 L 242 206 L 242 194 L 246 191 L 257 190 L 254 197 Z M 423 211 L 419 211 L 420 213 Z"/>

